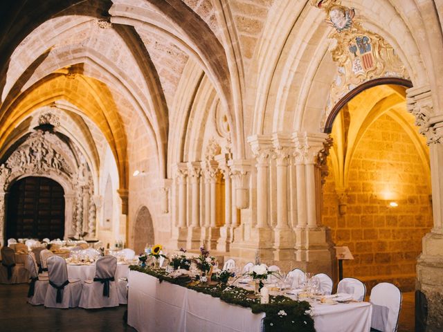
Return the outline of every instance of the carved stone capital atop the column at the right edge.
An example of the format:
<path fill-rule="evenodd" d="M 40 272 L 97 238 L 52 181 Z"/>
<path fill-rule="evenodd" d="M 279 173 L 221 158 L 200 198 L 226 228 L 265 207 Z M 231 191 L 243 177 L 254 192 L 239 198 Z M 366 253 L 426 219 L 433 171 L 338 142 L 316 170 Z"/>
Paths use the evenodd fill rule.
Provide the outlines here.
<path fill-rule="evenodd" d="M 406 91 L 406 108 L 415 116 L 415 124 L 419 132 L 427 138 L 427 145 L 441 143 L 442 133 L 437 130 L 443 119 L 434 120 L 432 93 L 429 86 L 410 88 Z"/>

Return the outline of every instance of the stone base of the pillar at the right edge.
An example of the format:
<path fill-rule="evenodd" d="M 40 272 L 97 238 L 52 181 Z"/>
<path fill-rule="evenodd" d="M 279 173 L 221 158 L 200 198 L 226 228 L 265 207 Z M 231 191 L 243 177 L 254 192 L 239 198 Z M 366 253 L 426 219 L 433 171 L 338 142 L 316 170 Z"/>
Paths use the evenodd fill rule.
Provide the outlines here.
<path fill-rule="evenodd" d="M 417 331 L 443 331 L 443 234 L 428 233 L 422 243 L 423 253 L 417 259 L 416 288 L 417 293 L 426 297 L 428 312 L 427 317 L 416 315 L 415 326 Z M 422 324 L 424 326 L 420 326 Z"/>

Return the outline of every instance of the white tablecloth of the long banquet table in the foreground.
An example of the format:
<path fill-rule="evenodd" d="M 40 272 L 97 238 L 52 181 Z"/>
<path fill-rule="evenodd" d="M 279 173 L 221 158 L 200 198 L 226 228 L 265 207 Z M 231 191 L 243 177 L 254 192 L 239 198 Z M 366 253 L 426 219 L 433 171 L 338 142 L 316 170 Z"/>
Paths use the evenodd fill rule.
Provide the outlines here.
<path fill-rule="evenodd" d="M 129 271 L 127 322 L 139 332 L 217 331 L 259 332 L 264 313 L 227 304 L 216 297 L 159 282 L 145 273 Z M 316 331 L 370 331 L 368 302 L 317 305 L 312 308 Z"/>

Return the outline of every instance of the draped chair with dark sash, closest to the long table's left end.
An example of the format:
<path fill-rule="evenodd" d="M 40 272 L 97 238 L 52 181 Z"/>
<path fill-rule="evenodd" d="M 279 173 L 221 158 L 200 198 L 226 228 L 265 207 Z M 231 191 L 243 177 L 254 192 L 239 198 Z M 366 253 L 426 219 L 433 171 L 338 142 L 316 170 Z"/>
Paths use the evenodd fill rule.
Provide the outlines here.
<path fill-rule="evenodd" d="M 118 306 L 118 291 L 114 281 L 116 269 L 116 257 L 104 256 L 97 259 L 96 275 L 93 281 L 84 282 L 79 304 L 81 308 Z"/>

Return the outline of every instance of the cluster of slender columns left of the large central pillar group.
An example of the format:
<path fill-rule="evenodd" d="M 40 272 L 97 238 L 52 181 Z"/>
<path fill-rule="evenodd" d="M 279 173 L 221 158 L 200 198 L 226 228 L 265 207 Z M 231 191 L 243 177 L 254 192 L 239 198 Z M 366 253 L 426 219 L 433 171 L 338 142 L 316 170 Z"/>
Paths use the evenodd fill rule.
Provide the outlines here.
<path fill-rule="evenodd" d="M 197 249 L 204 242 L 211 250 L 229 251 L 239 219 L 228 160 L 228 154 L 220 154 L 175 165 L 173 241 L 178 248 Z"/>

